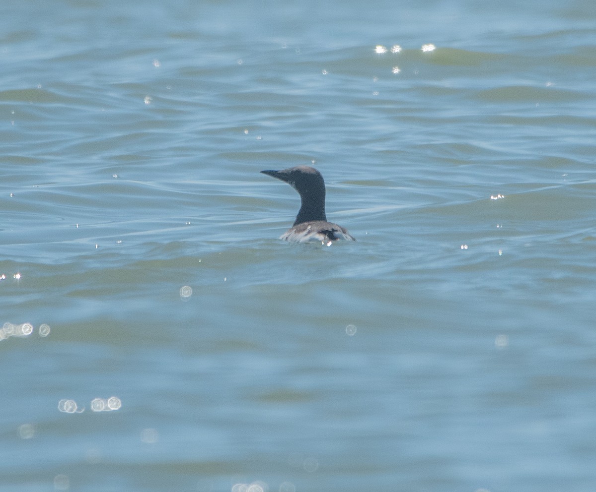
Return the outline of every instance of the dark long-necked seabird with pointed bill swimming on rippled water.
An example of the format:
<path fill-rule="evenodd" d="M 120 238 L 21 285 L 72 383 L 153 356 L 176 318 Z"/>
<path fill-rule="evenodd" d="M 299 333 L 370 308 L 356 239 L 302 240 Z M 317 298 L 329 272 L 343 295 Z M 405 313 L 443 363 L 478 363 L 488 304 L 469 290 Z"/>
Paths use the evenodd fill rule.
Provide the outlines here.
<path fill-rule="evenodd" d="M 327 246 L 331 246 L 339 239 L 355 241 L 341 225 L 327 222 L 325 181 L 315 168 L 301 165 L 281 171 L 260 172 L 288 183 L 300 194 L 300 210 L 296 221 L 280 236 L 280 239 L 293 243 L 321 241 Z"/>

